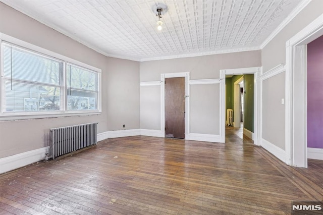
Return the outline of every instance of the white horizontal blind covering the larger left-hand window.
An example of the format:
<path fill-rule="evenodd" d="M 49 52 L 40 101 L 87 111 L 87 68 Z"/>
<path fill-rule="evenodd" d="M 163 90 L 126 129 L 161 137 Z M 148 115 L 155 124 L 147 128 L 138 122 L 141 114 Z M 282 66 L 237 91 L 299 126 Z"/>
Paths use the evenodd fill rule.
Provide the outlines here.
<path fill-rule="evenodd" d="M 64 62 L 11 44 L 2 46 L 3 112 L 61 111 Z"/>

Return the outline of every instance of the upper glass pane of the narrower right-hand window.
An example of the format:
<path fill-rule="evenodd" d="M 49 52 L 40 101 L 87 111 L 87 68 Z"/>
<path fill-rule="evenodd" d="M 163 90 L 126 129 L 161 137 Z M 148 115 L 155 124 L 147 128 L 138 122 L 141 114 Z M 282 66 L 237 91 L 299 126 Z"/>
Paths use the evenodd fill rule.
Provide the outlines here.
<path fill-rule="evenodd" d="M 97 73 L 68 64 L 67 86 L 76 89 L 97 91 Z"/>

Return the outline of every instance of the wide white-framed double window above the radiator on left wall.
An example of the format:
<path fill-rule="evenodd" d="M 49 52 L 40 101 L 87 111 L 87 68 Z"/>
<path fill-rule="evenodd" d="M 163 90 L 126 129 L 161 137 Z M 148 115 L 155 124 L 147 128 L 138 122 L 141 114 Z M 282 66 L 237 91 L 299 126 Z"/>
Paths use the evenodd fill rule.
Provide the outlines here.
<path fill-rule="evenodd" d="M 6 41 L 1 48 L 0 118 L 100 111 L 99 69 Z"/>

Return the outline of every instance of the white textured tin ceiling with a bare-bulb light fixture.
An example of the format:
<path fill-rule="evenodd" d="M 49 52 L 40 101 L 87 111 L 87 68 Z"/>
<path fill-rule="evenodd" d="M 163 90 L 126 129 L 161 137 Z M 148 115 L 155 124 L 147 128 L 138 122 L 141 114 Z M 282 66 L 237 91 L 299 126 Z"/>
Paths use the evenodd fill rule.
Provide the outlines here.
<path fill-rule="evenodd" d="M 302 0 L 0 0 L 106 56 L 146 61 L 260 49 Z M 163 30 L 152 8 L 163 4 Z"/>

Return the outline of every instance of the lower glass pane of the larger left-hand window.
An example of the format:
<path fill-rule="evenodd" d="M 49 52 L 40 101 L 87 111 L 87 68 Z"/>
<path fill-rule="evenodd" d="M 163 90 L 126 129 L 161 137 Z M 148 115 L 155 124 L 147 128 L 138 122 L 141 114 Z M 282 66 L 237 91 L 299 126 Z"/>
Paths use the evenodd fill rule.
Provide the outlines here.
<path fill-rule="evenodd" d="M 6 80 L 6 112 L 59 111 L 61 88 Z"/>

